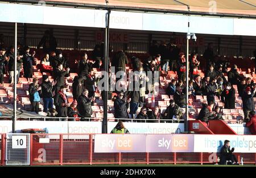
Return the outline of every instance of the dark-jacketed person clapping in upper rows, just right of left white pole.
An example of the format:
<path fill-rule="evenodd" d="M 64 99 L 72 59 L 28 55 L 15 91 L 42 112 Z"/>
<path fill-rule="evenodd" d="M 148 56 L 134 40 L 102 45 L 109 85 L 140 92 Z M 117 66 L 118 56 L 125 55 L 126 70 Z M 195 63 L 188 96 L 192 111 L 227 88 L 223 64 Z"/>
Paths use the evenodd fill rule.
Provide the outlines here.
<path fill-rule="evenodd" d="M 35 56 L 35 51 L 32 53 L 32 55 L 30 55 L 30 48 L 28 46 L 24 48 L 22 62 L 23 62 L 25 78 L 32 78 L 34 56 Z"/>

